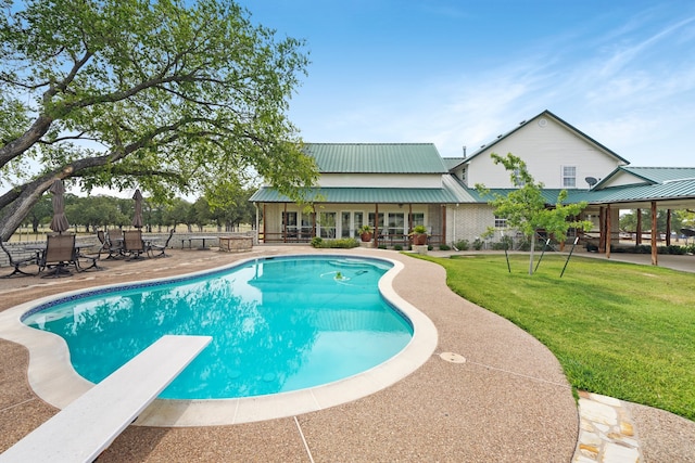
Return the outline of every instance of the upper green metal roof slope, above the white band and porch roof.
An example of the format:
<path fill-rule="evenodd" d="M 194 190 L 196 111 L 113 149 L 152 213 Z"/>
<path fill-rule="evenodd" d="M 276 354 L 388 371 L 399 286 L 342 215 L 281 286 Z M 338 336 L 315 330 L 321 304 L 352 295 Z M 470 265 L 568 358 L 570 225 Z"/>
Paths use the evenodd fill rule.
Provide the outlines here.
<path fill-rule="evenodd" d="M 307 143 L 320 173 L 444 173 L 433 143 Z"/>

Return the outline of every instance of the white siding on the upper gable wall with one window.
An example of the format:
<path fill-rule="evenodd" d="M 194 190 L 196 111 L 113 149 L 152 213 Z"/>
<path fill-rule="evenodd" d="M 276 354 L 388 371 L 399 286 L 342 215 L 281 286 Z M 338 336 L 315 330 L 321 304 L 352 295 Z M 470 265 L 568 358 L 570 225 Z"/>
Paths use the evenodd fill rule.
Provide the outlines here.
<path fill-rule="evenodd" d="M 576 188 L 585 190 L 589 188 L 584 181 L 586 177 L 601 180 L 622 164 L 554 119 L 544 118 L 545 125 L 540 125 L 539 120 L 529 123 L 470 159 L 468 185 L 482 183 L 486 188 L 513 187 L 509 172 L 502 165 L 493 164 L 490 153 L 501 156 L 511 153 L 520 157 L 535 181 L 543 182 L 548 189 L 565 188 L 563 166 L 577 167 Z"/>

